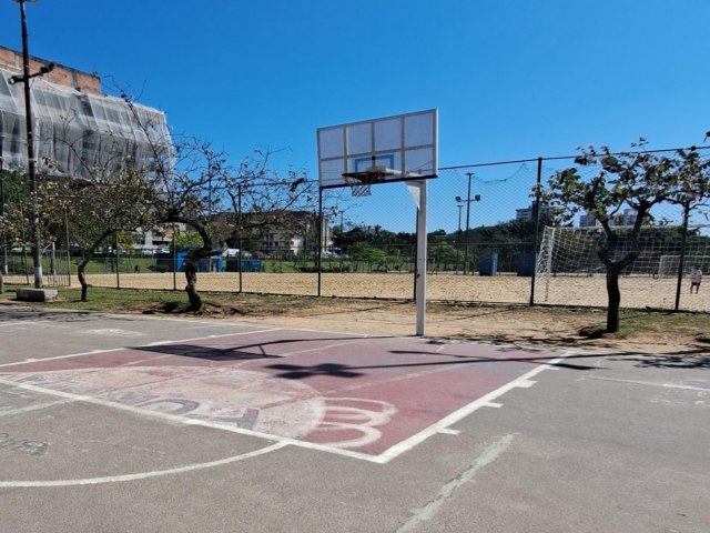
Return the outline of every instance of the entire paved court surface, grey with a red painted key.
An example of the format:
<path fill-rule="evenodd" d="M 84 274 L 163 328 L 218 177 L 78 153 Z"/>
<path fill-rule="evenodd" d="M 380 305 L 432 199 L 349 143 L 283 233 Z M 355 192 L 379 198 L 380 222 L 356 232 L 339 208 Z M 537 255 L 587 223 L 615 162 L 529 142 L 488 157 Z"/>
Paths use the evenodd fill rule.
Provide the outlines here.
<path fill-rule="evenodd" d="M 707 532 L 707 369 L 0 306 L 0 531 Z"/>

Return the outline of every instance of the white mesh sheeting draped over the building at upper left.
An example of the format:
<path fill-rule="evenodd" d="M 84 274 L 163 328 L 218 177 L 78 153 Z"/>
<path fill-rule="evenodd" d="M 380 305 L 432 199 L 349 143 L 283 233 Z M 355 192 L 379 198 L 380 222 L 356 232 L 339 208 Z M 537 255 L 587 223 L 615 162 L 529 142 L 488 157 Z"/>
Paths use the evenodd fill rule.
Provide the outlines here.
<path fill-rule="evenodd" d="M 27 165 L 24 88 L 8 83 L 11 76 L 0 70 L 0 145 L 6 169 Z M 169 154 L 170 132 L 162 111 L 39 78 L 31 83 L 39 172 L 90 179 L 124 161 L 143 165 Z"/>

